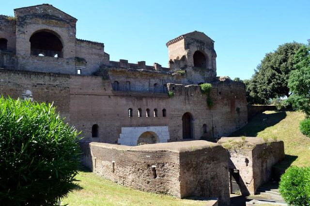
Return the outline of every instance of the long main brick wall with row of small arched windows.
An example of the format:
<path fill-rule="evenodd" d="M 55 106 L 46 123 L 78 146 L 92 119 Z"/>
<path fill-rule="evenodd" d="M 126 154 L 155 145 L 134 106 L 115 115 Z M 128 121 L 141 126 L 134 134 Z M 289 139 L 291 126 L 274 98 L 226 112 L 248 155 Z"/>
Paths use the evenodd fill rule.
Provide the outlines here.
<path fill-rule="evenodd" d="M 118 143 L 124 127 L 169 127 L 169 141 L 183 141 L 182 115 L 189 112 L 193 118 L 193 139 L 218 138 L 244 126 L 247 110 L 244 85 L 236 82 L 213 84 L 211 98 L 214 106 L 206 104 L 198 85 L 176 85 L 175 95 L 113 91 L 110 79 L 97 76 L 61 75 L 29 71 L 0 70 L 2 95 L 22 97 L 30 90 L 39 102 L 54 102 L 70 124 L 82 130 L 84 142 Z M 137 78 L 145 78 L 138 74 Z M 240 91 L 243 91 L 242 93 Z M 128 109 L 133 116 L 128 117 Z M 142 117 L 137 110 L 141 108 Z M 151 116 L 146 117 L 146 109 Z M 239 108 L 239 109 L 237 109 Z M 153 116 L 153 110 L 158 116 Z M 163 117 L 162 110 L 167 116 Z M 98 137 L 92 137 L 92 126 L 99 126 Z M 206 125 L 204 131 L 203 125 Z"/>

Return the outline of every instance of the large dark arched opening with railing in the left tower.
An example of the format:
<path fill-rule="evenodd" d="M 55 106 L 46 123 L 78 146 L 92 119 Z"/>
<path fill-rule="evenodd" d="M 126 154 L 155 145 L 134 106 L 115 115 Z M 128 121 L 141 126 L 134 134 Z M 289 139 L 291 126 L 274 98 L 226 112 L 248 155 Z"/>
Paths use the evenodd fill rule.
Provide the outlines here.
<path fill-rule="evenodd" d="M 29 41 L 31 55 L 62 58 L 62 41 L 54 32 L 35 32 Z"/>

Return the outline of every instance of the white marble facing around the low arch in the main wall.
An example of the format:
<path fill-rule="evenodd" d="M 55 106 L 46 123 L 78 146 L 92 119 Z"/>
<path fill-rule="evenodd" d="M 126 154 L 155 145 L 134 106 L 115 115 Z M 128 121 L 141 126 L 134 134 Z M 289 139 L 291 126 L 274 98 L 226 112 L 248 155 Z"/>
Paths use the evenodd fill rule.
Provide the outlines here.
<path fill-rule="evenodd" d="M 170 139 L 168 126 L 163 127 L 122 127 L 118 143 L 127 146 L 137 146 L 140 135 L 144 132 L 154 132 L 159 143 L 167 143 Z"/>

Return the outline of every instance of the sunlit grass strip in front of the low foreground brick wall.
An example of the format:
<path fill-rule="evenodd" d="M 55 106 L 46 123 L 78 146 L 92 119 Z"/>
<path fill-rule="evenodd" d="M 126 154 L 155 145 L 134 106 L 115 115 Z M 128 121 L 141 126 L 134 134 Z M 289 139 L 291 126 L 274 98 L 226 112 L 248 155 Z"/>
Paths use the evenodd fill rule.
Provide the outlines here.
<path fill-rule="evenodd" d="M 200 206 L 206 201 L 184 200 L 126 188 L 90 172 L 76 177 L 80 188 L 62 201 L 69 206 Z"/>

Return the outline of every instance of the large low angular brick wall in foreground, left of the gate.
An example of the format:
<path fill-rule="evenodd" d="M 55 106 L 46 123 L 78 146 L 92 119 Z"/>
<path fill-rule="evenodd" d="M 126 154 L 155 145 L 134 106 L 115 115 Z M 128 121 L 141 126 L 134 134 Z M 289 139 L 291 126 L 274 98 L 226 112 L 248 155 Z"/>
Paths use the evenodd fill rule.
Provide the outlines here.
<path fill-rule="evenodd" d="M 123 146 L 84 145 L 93 172 L 138 190 L 179 198 L 216 197 L 229 205 L 228 155 L 217 143 L 192 141 Z M 91 159 L 92 162 L 91 163 Z"/>

